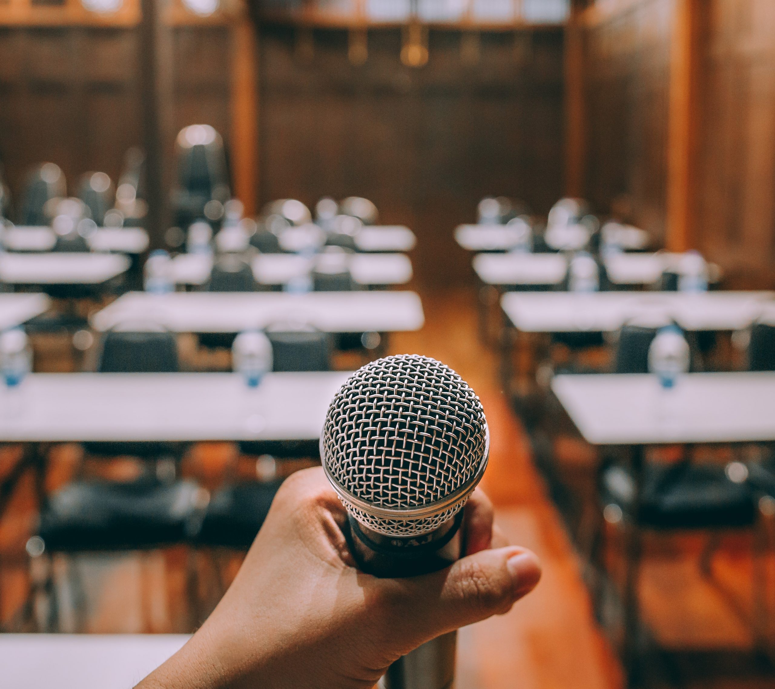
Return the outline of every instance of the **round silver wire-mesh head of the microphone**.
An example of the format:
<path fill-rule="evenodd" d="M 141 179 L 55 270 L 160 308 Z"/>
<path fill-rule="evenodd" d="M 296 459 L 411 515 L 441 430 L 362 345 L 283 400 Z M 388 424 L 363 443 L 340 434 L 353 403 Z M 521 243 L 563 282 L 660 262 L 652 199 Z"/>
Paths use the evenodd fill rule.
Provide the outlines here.
<path fill-rule="evenodd" d="M 387 536 L 428 533 L 462 509 L 487 464 L 479 398 L 436 359 L 398 355 L 336 393 L 321 454 L 346 509 Z"/>

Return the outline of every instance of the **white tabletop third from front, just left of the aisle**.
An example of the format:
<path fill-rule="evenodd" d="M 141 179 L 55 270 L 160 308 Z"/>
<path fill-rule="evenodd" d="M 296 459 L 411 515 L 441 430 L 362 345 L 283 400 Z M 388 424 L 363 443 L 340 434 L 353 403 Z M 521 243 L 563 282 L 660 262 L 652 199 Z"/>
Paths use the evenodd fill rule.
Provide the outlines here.
<path fill-rule="evenodd" d="M 355 254 L 346 259 L 356 283 L 363 286 L 402 285 L 412 279 L 412 262 L 404 254 Z M 253 275 L 262 285 L 283 285 L 305 276 L 315 266 L 315 258 L 296 254 L 261 254 L 253 259 Z M 181 254 L 172 259 L 175 283 L 202 285 L 210 277 L 212 258 Z"/>

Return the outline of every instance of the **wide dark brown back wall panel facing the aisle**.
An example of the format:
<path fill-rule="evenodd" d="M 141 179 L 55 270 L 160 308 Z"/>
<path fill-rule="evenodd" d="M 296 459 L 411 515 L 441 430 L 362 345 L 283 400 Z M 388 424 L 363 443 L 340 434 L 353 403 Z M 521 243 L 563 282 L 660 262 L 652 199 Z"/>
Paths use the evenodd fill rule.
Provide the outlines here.
<path fill-rule="evenodd" d="M 529 50 L 524 47 L 529 37 Z M 563 189 L 561 30 L 483 35 L 480 62 L 458 33 L 431 32 L 422 69 L 399 61 L 400 34 L 371 32 L 369 59 L 347 60 L 346 33 L 315 33 L 312 62 L 290 29 L 260 34 L 260 199 L 372 199 L 419 238 L 415 272 L 459 279 L 470 256 L 453 228 L 487 194 L 547 211 Z"/>

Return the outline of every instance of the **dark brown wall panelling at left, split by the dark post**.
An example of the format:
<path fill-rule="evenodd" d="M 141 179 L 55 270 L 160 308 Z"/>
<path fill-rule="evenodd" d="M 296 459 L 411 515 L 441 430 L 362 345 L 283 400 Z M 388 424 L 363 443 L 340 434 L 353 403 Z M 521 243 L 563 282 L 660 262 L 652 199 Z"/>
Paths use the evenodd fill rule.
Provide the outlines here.
<path fill-rule="evenodd" d="M 204 123 L 229 140 L 229 29 L 171 29 L 174 132 Z M 89 170 L 119 176 L 142 143 L 136 28 L 0 28 L 0 162 L 18 201 L 26 172 L 44 161 L 71 192 Z"/>

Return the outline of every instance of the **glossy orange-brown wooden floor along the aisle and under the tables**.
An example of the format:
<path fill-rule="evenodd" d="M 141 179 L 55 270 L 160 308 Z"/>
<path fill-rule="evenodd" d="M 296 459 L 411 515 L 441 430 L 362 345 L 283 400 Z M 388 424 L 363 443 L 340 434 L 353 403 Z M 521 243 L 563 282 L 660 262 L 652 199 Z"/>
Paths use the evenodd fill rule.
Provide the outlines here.
<path fill-rule="evenodd" d="M 484 488 L 512 543 L 536 550 L 544 566 L 539 587 L 512 612 L 461 631 L 458 689 L 622 687 L 615 653 L 594 622 L 580 563 L 533 468 L 525 434 L 499 387 L 494 352 L 477 340 L 473 290 L 446 291 L 443 296 L 425 293 L 422 298 L 425 328 L 394 336 L 391 353 L 439 358 L 477 391 L 491 428 Z M 591 457 L 590 448 L 574 438 L 567 440 L 563 453 L 571 463 L 582 465 Z M 199 446 L 188 458 L 188 471 L 214 482 L 232 454 L 226 444 Z M 77 460 L 75 447 L 57 451 L 49 485 L 66 480 Z M 6 451 L 0 458 L 0 475 L 11 463 L 12 452 Z M 5 622 L 12 619 L 26 591 L 23 547 L 34 525 L 31 496 L 31 485 L 22 485 L 0 523 L 0 617 Z M 722 546 L 716 558 L 715 571 L 732 591 L 729 595 L 700 577 L 700 546 L 686 539 L 647 544 L 642 602 L 649 628 L 661 644 L 681 650 L 673 654 L 672 662 L 680 675 L 692 677 L 682 686 L 775 687 L 771 675 L 753 667 L 751 636 L 736 611 L 750 608 L 745 543 L 735 540 L 729 547 Z M 177 549 L 143 557 L 79 560 L 86 582 L 88 631 L 186 631 L 190 623 L 184 603 L 187 557 Z M 64 615 L 64 629 L 73 624 L 73 616 Z"/>

